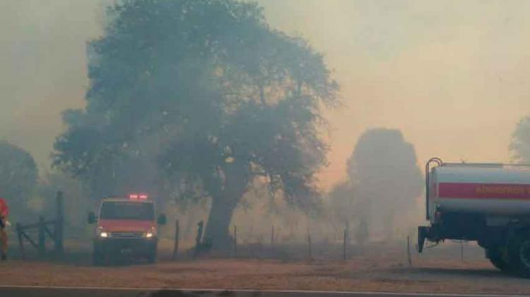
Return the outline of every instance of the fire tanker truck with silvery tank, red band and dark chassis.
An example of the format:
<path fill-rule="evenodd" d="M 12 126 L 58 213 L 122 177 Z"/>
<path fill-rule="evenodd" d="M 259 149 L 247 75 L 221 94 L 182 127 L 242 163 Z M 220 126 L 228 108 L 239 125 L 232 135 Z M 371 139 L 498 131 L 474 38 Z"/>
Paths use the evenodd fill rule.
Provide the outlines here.
<path fill-rule="evenodd" d="M 444 163 L 425 165 L 425 240 L 476 241 L 503 272 L 530 277 L 530 165 Z"/>

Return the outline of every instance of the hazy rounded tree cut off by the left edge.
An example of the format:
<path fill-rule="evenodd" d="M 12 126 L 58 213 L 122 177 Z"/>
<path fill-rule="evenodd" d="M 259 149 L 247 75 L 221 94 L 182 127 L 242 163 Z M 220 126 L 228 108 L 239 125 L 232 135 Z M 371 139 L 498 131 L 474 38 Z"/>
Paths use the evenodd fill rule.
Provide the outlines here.
<path fill-rule="evenodd" d="M 14 212 L 27 210 L 26 203 L 37 185 L 38 171 L 33 157 L 18 146 L 0 141 L 0 197 Z"/>

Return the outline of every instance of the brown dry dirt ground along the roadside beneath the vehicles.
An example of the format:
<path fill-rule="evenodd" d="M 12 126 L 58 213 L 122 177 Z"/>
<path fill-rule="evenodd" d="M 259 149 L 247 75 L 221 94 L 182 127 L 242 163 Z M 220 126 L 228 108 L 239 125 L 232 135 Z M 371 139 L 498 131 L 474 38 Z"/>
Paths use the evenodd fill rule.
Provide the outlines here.
<path fill-rule="evenodd" d="M 280 250 L 280 248 L 276 248 Z M 183 259 L 162 253 L 157 264 L 91 267 L 88 255 L 69 262 L 10 260 L 0 263 L 0 285 L 172 287 L 199 289 L 282 289 L 339 291 L 398 291 L 431 293 L 530 293 L 530 280 L 497 272 L 483 251 L 459 245 L 413 252 L 409 267 L 400 247 L 371 245 L 352 250 L 343 262 L 325 260 Z M 278 251 L 276 251 L 279 253 Z M 304 255 L 300 250 L 299 255 Z"/>

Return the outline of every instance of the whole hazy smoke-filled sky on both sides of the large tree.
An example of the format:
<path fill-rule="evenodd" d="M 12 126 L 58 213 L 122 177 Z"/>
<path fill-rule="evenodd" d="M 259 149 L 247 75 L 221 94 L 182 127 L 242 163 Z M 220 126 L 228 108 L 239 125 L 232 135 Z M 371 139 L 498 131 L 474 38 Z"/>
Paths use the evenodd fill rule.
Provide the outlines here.
<path fill-rule="evenodd" d="M 60 112 L 83 104 L 86 40 L 107 0 L 4 1 L 0 139 L 47 165 Z M 401 129 L 418 153 L 509 161 L 530 114 L 530 1 L 261 0 L 274 27 L 324 52 L 346 107 L 328 112 L 328 187 L 369 127 Z"/>

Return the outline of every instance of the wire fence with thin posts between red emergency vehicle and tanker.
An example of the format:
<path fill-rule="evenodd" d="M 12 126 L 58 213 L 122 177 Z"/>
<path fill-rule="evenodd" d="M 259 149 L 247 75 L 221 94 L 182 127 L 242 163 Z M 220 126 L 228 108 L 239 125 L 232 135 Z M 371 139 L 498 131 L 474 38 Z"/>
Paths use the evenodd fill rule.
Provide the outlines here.
<path fill-rule="evenodd" d="M 414 247 L 411 245 L 410 236 L 399 236 L 399 238 L 389 241 L 360 243 L 355 238 L 351 238 L 351 231 L 348 226 L 335 232 L 308 230 L 305 234 L 300 234 L 291 233 L 287 229 L 282 232 L 278 226 L 271 226 L 269 233 L 257 233 L 255 228 L 250 226 L 232 225 L 230 228 L 232 250 L 220 251 L 215 248 L 211 249 L 212 244 L 215 243 L 204 241 L 204 222 L 199 222 L 196 227 L 194 248 L 184 251 L 180 257 L 196 258 L 204 255 L 206 257 L 235 257 L 239 259 L 347 262 L 353 259 L 377 259 L 381 255 L 391 255 L 396 262 L 408 266 L 412 266 L 413 260 L 418 258 L 418 255 L 413 253 Z M 179 247 L 178 230 L 177 223 L 172 257 L 174 260 L 177 259 Z M 261 228 L 261 231 L 263 230 L 264 228 Z"/>

